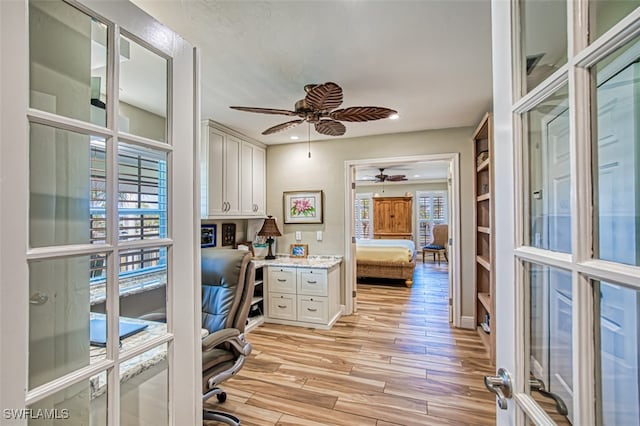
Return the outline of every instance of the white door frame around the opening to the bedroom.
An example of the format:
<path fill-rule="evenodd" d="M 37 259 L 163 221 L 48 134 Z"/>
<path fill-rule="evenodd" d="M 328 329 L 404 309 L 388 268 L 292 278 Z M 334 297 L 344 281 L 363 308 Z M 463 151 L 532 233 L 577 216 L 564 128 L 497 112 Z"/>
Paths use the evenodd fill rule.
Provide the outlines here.
<path fill-rule="evenodd" d="M 444 153 L 430 155 L 412 155 L 405 157 L 371 158 L 364 160 L 346 160 L 345 167 L 345 313 L 352 314 L 356 309 L 356 263 L 355 244 L 352 237 L 355 236 L 355 224 L 353 220 L 353 205 L 355 202 L 355 169 L 357 166 L 378 166 L 389 162 L 393 163 L 417 163 L 426 161 L 448 161 L 450 164 L 452 181 L 449 197 L 449 211 L 452 222 L 449 226 L 451 243 L 449 246 L 449 279 L 452 282 L 453 299 L 453 325 L 460 327 L 462 324 L 461 309 L 461 283 L 460 283 L 460 153 Z M 413 219 L 412 219 L 413 221 Z M 355 237 L 353 237 L 355 238 Z"/>

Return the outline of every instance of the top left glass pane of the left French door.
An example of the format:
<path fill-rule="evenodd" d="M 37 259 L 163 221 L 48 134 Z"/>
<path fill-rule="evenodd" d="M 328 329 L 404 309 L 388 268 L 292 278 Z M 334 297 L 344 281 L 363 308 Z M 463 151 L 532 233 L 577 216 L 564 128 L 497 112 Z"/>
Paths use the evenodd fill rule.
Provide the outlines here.
<path fill-rule="evenodd" d="M 107 27 L 61 1 L 29 2 L 32 108 L 106 126 Z"/>

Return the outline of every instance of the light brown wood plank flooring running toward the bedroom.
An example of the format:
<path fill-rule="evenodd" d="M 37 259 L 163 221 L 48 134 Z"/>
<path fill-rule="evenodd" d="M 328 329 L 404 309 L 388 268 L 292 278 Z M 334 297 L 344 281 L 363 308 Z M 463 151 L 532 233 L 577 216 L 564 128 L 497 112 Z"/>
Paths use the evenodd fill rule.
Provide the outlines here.
<path fill-rule="evenodd" d="M 252 330 L 227 401 L 205 406 L 246 426 L 495 424 L 494 368 L 475 331 L 449 325 L 446 264 L 418 263 L 414 278 L 359 283 L 358 312 L 331 330 Z"/>

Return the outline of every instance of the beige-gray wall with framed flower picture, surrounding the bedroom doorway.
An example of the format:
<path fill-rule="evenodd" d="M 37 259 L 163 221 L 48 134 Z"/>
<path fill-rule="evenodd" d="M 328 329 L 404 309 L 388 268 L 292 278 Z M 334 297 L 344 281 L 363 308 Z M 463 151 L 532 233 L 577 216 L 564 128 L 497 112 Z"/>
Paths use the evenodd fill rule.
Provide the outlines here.
<path fill-rule="evenodd" d="M 267 214 L 277 218 L 283 234 L 277 238 L 278 252 L 287 252 L 289 244 L 296 242 L 295 232 L 301 231 L 301 243 L 309 244 L 310 254 L 344 256 L 345 161 L 459 152 L 462 315 L 473 316 L 473 130 L 465 127 L 315 142 L 311 145 L 311 158 L 307 158 L 307 143 L 270 145 L 267 148 Z M 282 193 L 317 189 L 324 191 L 324 223 L 285 225 Z M 316 231 L 323 231 L 323 241 L 316 241 Z M 344 267 L 342 277 L 344 283 Z"/>

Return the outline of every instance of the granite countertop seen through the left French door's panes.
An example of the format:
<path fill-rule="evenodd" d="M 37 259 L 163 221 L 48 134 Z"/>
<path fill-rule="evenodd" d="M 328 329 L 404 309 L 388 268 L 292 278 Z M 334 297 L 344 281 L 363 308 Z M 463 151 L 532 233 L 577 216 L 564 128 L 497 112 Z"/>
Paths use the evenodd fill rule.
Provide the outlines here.
<path fill-rule="evenodd" d="M 91 318 L 104 317 L 104 314 L 91 313 Z M 122 346 L 120 351 L 126 351 L 133 349 L 146 341 L 158 336 L 162 336 L 167 332 L 167 324 L 162 322 L 144 321 L 137 318 L 126 318 L 128 322 L 135 322 L 140 324 L 146 324 L 147 328 L 143 331 L 134 334 L 133 336 L 122 339 Z M 99 346 L 91 346 L 91 357 L 94 359 L 105 359 L 106 348 Z M 120 364 L 120 381 L 126 382 L 127 380 L 137 376 L 138 374 L 146 371 L 161 362 L 165 361 L 167 357 L 167 345 L 162 344 L 154 347 L 138 356 L 135 356 Z M 166 368 L 166 366 L 165 366 Z M 104 394 L 107 390 L 107 377 L 106 374 L 98 374 L 91 377 L 91 398 L 97 398 Z"/>

